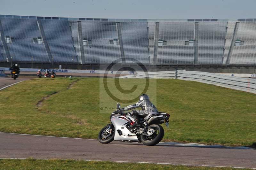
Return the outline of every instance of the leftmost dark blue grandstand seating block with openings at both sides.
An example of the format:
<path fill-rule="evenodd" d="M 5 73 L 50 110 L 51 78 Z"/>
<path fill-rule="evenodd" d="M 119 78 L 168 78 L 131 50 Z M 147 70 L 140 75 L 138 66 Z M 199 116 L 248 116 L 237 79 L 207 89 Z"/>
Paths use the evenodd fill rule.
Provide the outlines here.
<path fill-rule="evenodd" d="M 14 38 L 7 43 L 12 61 L 49 62 L 44 44 L 33 42 L 33 38 L 41 37 L 36 20 L 1 18 L 1 23 L 4 35 Z"/>

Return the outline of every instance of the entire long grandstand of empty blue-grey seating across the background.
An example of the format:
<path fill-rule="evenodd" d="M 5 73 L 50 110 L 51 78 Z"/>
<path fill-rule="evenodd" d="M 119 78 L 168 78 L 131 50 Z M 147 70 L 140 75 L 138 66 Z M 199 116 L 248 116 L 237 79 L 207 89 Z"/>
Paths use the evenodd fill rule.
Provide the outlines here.
<path fill-rule="evenodd" d="M 0 61 L 256 65 L 256 19 L 92 19 L 0 15 Z"/>

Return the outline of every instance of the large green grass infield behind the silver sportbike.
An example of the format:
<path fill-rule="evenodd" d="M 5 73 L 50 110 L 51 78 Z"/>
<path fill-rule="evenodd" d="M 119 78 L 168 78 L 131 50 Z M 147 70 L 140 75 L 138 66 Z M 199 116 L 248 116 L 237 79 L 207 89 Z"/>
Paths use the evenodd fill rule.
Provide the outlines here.
<path fill-rule="evenodd" d="M 35 79 L 0 91 L 0 131 L 96 139 L 109 123 L 112 111 L 105 107 L 115 108 L 117 102 L 106 94 L 103 79 L 80 78 L 67 89 L 76 80 Z M 124 95 L 115 90 L 114 79 L 108 79 L 109 89 L 121 99 L 137 96 L 144 83 L 145 79 L 120 79 L 120 86 L 126 90 L 138 84 L 134 93 Z M 171 115 L 163 141 L 226 145 L 256 142 L 255 94 L 174 79 L 150 79 L 147 94 L 159 111 Z M 48 95 L 41 106 L 36 105 Z"/>

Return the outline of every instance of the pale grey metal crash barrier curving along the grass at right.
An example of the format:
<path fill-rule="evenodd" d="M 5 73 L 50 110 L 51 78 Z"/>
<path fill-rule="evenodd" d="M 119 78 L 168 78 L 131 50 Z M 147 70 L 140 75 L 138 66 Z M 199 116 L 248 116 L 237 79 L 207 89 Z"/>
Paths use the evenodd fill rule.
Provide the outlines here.
<path fill-rule="evenodd" d="M 242 90 L 256 94 L 256 79 L 241 78 L 221 75 L 216 73 L 196 71 L 162 71 L 162 72 L 138 72 L 137 75 L 127 75 L 119 78 L 171 78 L 221 86 L 229 89 Z"/>

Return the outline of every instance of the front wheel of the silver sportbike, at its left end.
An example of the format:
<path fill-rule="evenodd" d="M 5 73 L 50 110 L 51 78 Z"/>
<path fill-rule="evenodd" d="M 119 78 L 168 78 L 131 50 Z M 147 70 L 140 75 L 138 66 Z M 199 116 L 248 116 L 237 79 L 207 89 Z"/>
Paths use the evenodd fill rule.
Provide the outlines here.
<path fill-rule="evenodd" d="M 98 140 L 100 143 L 110 143 L 114 140 L 114 137 L 115 137 L 115 128 L 113 124 L 109 124 L 100 130 L 98 135 Z"/>

